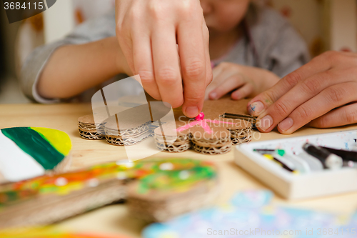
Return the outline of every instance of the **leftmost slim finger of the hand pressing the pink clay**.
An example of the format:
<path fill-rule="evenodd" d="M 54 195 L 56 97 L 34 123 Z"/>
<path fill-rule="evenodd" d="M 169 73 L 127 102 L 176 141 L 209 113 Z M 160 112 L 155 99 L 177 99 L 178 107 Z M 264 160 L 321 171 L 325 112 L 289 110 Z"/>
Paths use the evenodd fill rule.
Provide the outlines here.
<path fill-rule="evenodd" d="M 154 99 L 161 100 L 159 88 L 155 81 L 153 57 L 149 35 L 134 37 L 133 55 L 135 74 L 139 74 L 145 91 Z"/>

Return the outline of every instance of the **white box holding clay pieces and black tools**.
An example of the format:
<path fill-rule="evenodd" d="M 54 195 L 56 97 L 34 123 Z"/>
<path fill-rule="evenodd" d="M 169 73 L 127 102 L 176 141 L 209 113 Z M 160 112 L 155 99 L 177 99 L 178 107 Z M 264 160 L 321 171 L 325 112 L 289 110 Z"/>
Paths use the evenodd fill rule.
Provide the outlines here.
<path fill-rule="evenodd" d="M 357 132 L 348 131 L 252 142 L 238 145 L 234 157 L 238 166 L 284 198 L 328 196 L 357 191 L 356 163 L 351 156 L 343 158 L 347 151 L 357 151 L 356 139 Z M 316 155 L 321 147 L 337 149 L 338 155 Z"/>

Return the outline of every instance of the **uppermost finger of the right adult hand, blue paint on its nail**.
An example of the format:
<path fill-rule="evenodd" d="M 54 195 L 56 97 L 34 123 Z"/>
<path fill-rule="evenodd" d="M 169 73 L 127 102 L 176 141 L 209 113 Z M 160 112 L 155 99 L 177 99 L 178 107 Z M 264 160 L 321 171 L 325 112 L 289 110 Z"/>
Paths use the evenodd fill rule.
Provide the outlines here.
<path fill-rule="evenodd" d="M 327 52 L 317 56 L 308 62 L 308 64 L 301 66 L 299 69 L 296 69 L 296 71 L 283 77 L 283 79 L 278 81 L 271 89 L 251 99 L 247 105 L 248 113 L 252 116 L 259 116 L 269 106 L 280 99 L 281 96 L 290 91 L 298 82 L 314 74 L 331 69 L 331 57 L 333 57 L 333 54 L 333 52 Z"/>

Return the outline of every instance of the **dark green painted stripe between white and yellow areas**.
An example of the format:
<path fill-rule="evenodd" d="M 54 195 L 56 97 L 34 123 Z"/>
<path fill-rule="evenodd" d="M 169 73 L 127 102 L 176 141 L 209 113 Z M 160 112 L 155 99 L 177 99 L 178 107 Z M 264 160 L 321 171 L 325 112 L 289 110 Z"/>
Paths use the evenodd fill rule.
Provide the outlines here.
<path fill-rule="evenodd" d="M 44 169 L 54 169 L 63 159 L 49 142 L 29 127 L 14 127 L 1 129 L 1 132 L 17 144 L 20 149 L 36 159 Z"/>

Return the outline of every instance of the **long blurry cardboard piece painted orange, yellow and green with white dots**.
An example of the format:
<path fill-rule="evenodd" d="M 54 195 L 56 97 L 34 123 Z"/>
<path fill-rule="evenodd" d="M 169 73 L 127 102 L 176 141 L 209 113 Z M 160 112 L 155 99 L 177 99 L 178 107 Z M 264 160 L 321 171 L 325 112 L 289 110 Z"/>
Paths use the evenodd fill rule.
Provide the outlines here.
<path fill-rule="evenodd" d="M 216 166 L 193 159 L 113 162 L 0 187 L 0 229 L 50 224 L 128 199 L 130 213 L 164 221 L 218 195 Z M 189 205 L 188 205 L 189 204 Z"/>

